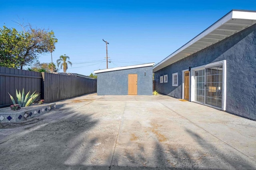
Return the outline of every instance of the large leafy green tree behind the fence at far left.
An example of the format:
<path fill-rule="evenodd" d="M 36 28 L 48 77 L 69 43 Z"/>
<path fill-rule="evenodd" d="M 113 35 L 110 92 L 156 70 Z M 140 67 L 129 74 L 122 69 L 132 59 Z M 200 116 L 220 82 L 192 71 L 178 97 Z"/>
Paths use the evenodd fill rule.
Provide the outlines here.
<path fill-rule="evenodd" d="M 58 39 L 53 31 L 33 29 L 31 25 L 15 28 L 0 28 L 0 66 L 23 68 L 33 63 L 39 55 L 54 51 Z"/>

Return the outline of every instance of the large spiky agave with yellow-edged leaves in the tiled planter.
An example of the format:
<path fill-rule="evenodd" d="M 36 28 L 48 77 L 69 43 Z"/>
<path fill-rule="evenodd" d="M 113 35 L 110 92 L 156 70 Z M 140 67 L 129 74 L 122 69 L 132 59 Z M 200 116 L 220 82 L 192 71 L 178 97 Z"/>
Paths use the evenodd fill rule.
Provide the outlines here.
<path fill-rule="evenodd" d="M 8 93 L 10 95 L 10 93 Z M 18 90 L 16 89 L 16 97 L 17 97 L 17 102 L 18 105 L 20 105 L 21 107 L 27 107 L 30 106 L 35 100 L 36 98 L 39 96 L 40 93 L 36 93 L 36 91 L 34 91 L 34 93 L 32 93 L 30 95 L 30 91 L 26 94 L 24 94 L 24 88 L 22 90 L 22 93 L 20 93 L 20 91 L 18 92 Z M 14 98 L 10 95 L 10 98 L 12 100 L 13 104 L 16 104 Z"/>

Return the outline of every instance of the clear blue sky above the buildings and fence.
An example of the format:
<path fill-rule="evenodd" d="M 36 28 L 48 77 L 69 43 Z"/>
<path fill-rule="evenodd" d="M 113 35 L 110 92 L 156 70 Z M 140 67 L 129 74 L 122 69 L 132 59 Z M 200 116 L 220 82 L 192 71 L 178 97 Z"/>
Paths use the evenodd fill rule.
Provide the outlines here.
<path fill-rule="evenodd" d="M 53 62 L 68 55 L 67 72 L 89 75 L 106 68 L 158 63 L 215 21 L 237 10 L 256 10 L 255 0 L 8 0 L 0 27 L 14 22 L 53 30 Z M 50 53 L 39 61 L 51 62 Z"/>

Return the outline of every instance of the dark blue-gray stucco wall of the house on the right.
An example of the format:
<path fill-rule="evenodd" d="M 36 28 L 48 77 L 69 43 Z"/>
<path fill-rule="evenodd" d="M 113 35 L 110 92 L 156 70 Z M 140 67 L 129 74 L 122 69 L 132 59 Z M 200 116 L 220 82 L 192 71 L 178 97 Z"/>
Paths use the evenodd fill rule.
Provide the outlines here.
<path fill-rule="evenodd" d="M 226 60 L 226 111 L 256 119 L 256 24 L 206 49 L 155 72 L 156 90 L 182 98 L 182 70 L 189 66 Z M 178 72 L 178 87 L 172 86 L 172 73 Z M 168 83 L 160 76 L 168 74 Z"/>

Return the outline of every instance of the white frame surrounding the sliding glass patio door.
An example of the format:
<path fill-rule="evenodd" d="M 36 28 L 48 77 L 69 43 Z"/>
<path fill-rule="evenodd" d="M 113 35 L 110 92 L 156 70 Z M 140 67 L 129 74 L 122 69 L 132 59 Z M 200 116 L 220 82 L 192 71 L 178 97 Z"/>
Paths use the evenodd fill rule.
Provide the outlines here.
<path fill-rule="evenodd" d="M 222 61 L 218 61 L 218 62 L 215 62 L 215 63 L 210 63 L 210 64 L 206 64 L 206 65 L 202 65 L 202 66 L 198 66 L 198 67 L 194 67 L 194 68 L 191 68 L 191 97 L 190 97 L 190 100 L 191 102 L 195 102 L 195 103 L 198 103 L 196 102 L 195 100 L 195 71 L 198 71 L 198 70 L 202 70 L 202 69 L 205 69 L 205 68 L 211 68 L 211 67 L 214 67 L 214 66 L 220 66 L 222 65 L 222 110 L 226 110 L 226 76 L 227 76 L 227 66 L 226 66 L 226 60 L 222 60 Z M 202 103 L 200 103 L 202 104 Z M 208 104 L 204 104 L 206 106 L 210 106 L 210 107 L 214 107 L 216 109 L 220 109 L 219 107 L 215 107 L 215 106 L 212 106 L 212 105 L 208 105 Z"/>

